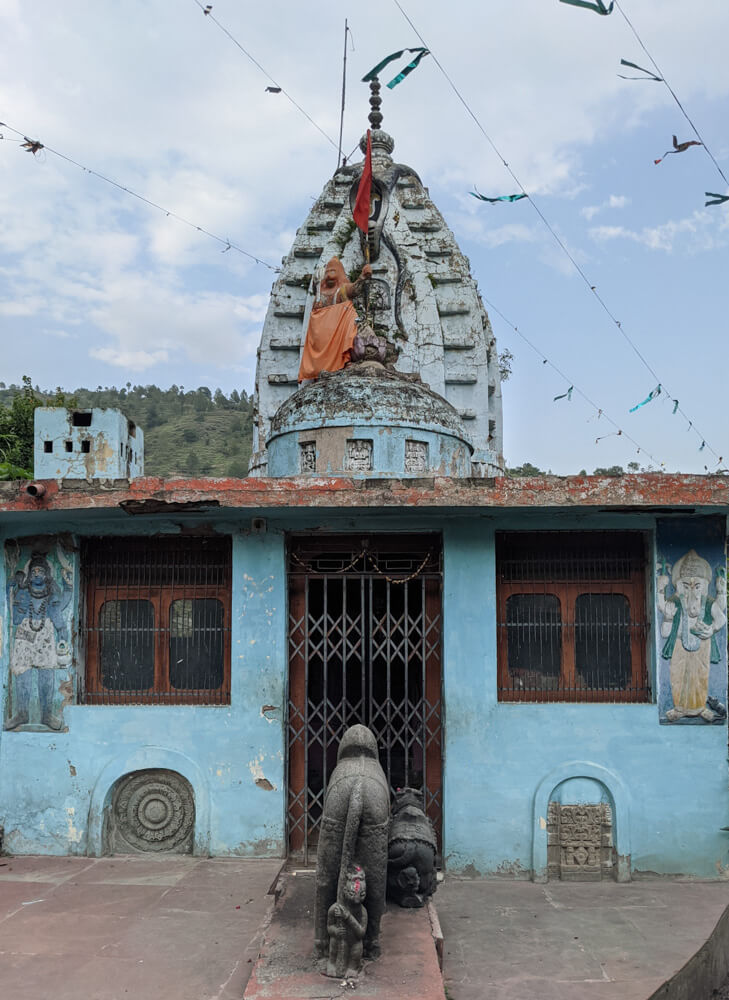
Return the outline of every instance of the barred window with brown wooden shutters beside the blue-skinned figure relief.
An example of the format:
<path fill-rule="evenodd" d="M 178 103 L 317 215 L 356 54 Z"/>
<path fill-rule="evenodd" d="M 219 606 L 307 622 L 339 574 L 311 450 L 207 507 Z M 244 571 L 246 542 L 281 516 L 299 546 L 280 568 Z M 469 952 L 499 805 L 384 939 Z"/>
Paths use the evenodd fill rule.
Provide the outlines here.
<path fill-rule="evenodd" d="M 229 538 L 83 545 L 86 704 L 230 704 Z"/>

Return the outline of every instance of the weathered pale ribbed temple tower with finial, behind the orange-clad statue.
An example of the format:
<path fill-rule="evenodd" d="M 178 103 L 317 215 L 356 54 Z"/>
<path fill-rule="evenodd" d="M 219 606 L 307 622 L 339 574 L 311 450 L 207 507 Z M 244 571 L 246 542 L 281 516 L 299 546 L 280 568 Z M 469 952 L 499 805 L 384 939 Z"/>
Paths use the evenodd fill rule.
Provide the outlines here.
<path fill-rule="evenodd" d="M 501 385 L 496 341 L 468 259 L 410 167 L 395 163 L 381 129 L 379 83 L 371 84 L 372 202 L 367 240 L 373 278 L 369 314 L 388 342 L 388 363 L 417 373 L 463 422 L 471 475 L 503 474 Z M 366 139 L 360 148 L 364 152 Z M 273 286 L 258 350 L 251 475 L 267 474 L 266 442 L 278 408 L 295 392 L 318 270 L 333 256 L 359 273 L 365 236 L 352 218 L 362 163 L 326 184 Z"/>

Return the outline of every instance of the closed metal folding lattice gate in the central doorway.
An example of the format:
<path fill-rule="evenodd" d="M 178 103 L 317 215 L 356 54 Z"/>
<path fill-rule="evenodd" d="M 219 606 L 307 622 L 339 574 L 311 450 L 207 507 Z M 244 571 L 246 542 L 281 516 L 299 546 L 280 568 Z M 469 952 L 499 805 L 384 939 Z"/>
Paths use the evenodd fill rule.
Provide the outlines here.
<path fill-rule="evenodd" d="M 440 536 L 291 538 L 288 573 L 289 852 L 306 862 L 316 849 L 339 742 L 358 722 L 391 789 L 422 789 L 440 844 Z"/>

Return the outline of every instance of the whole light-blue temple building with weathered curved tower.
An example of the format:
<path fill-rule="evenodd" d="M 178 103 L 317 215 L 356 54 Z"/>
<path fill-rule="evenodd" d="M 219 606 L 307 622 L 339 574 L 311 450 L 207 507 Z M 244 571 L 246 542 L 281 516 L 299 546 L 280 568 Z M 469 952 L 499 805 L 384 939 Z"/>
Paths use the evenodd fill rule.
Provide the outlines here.
<path fill-rule="evenodd" d="M 4 849 L 311 863 L 360 725 L 446 874 L 725 875 L 729 483 L 504 474 L 476 283 L 371 105 L 367 232 L 343 166 L 273 288 L 250 476 L 46 411 L 0 483 Z M 300 383 L 334 257 L 356 329 Z"/>

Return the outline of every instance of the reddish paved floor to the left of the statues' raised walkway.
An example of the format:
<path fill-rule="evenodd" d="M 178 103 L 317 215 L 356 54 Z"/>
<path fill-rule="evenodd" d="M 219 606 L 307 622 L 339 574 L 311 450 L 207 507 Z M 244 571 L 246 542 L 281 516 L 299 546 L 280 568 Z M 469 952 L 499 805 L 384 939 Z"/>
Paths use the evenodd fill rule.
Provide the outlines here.
<path fill-rule="evenodd" d="M 3 1000 L 240 1000 L 281 861 L 0 858 Z"/>

